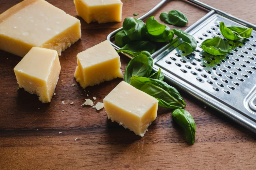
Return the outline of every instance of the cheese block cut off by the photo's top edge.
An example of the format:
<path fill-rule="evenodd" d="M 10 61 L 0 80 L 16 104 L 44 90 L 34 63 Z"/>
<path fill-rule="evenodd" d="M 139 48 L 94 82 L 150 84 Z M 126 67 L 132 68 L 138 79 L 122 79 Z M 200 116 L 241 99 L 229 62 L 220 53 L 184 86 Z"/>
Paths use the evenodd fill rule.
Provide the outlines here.
<path fill-rule="evenodd" d="M 122 21 L 121 0 L 74 0 L 77 15 L 87 23 Z"/>

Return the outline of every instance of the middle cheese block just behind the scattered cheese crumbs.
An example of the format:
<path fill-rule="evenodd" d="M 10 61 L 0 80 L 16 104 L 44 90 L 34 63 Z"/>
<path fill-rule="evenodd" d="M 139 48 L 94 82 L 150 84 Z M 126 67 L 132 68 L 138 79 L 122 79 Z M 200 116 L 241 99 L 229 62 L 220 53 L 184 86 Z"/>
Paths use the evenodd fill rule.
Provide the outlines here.
<path fill-rule="evenodd" d="M 75 78 L 82 88 L 113 78 L 123 78 L 120 57 L 106 40 L 77 54 Z"/>

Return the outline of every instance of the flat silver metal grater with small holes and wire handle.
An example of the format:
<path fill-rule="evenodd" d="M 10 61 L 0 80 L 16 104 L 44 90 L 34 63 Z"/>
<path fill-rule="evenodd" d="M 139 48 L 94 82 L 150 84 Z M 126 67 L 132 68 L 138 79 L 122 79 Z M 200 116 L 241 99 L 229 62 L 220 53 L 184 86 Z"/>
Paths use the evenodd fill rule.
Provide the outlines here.
<path fill-rule="evenodd" d="M 166 1 L 168 0 L 162 0 L 139 19 L 144 20 L 151 16 Z M 170 44 L 152 54 L 153 69 L 157 71 L 161 68 L 165 80 L 256 133 L 256 26 L 199 1 L 187 1 L 211 10 L 185 30 L 196 38 L 196 51 L 185 56 L 183 51 L 179 50 L 182 40 L 175 38 Z M 224 38 L 219 30 L 221 21 L 227 26 L 253 28 L 252 36 L 232 41 L 236 47 L 226 55 L 209 55 L 202 51 L 200 44 L 215 36 Z M 106 39 L 110 41 L 120 30 L 122 28 L 113 31 Z M 111 44 L 116 50 L 120 49 Z M 128 54 L 125 55 L 132 58 Z"/>

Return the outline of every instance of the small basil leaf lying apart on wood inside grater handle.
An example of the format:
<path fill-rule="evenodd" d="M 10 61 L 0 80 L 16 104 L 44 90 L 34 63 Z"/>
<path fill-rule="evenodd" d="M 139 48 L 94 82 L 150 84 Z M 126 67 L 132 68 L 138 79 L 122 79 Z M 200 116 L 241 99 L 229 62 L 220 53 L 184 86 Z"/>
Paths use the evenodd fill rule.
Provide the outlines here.
<path fill-rule="evenodd" d="M 171 10 L 166 16 L 167 12 L 163 12 L 160 15 L 160 20 L 164 23 L 175 25 L 175 26 L 185 26 L 188 23 L 187 17 L 178 10 Z"/>

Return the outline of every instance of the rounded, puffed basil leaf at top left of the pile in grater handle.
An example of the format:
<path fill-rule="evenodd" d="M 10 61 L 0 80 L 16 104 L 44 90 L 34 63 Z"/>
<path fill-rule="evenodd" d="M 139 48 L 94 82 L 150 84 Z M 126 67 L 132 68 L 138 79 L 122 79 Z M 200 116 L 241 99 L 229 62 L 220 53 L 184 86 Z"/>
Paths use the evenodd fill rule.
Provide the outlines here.
<path fill-rule="evenodd" d="M 123 22 L 123 30 L 130 40 L 141 40 L 146 34 L 146 25 L 143 21 L 128 17 Z"/>

